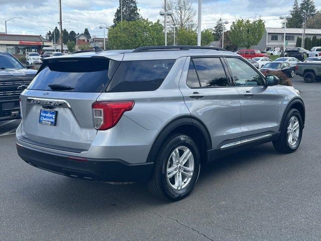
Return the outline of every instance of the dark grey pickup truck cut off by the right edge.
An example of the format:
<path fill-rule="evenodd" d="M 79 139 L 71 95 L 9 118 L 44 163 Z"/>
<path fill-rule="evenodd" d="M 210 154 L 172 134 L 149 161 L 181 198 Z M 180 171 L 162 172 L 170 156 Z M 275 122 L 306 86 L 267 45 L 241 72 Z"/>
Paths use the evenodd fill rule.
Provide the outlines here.
<path fill-rule="evenodd" d="M 321 77 L 321 61 L 307 61 L 297 63 L 297 74 L 303 76 L 306 83 L 312 83 Z"/>

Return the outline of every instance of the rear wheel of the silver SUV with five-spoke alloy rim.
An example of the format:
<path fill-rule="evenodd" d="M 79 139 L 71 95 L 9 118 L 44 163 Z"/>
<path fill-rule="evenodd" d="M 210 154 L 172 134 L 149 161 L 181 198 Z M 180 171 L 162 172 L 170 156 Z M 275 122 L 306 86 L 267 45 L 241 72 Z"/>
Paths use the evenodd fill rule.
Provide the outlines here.
<path fill-rule="evenodd" d="M 148 180 L 152 194 L 177 201 L 193 190 L 200 173 L 200 151 L 195 141 L 184 134 L 170 136 L 159 149 Z"/>

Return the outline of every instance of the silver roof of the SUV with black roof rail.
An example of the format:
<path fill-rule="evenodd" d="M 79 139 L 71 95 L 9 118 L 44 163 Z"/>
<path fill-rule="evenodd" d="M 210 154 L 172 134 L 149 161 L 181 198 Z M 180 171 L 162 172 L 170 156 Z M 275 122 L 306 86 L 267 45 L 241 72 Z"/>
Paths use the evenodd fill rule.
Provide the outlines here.
<path fill-rule="evenodd" d="M 105 57 L 117 61 L 131 61 L 131 60 L 152 60 L 155 59 L 178 59 L 187 56 L 239 56 L 236 53 L 215 50 L 215 49 L 190 49 L 190 50 L 176 50 L 176 49 L 161 49 L 148 52 L 133 52 L 134 50 L 108 50 L 100 52 L 83 52 L 71 55 L 53 57 L 53 58 L 72 58 L 72 57 Z"/>

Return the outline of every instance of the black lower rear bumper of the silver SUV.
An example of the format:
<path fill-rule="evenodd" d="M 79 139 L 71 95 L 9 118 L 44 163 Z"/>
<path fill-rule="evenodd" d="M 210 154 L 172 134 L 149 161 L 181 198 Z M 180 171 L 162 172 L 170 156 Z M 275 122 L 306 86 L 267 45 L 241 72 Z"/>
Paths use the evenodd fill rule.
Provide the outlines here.
<path fill-rule="evenodd" d="M 57 174 L 107 182 L 146 181 L 153 163 L 129 164 L 117 159 L 79 159 L 35 150 L 17 144 L 18 155 L 28 164 Z"/>

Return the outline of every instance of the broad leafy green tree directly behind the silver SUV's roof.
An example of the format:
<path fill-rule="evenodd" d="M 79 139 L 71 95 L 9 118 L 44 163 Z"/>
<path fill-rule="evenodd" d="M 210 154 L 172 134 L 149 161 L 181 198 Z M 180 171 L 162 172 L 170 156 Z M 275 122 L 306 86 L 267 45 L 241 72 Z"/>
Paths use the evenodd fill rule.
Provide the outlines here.
<path fill-rule="evenodd" d="M 163 26 L 146 19 L 123 21 L 108 31 L 110 49 L 135 49 L 141 46 L 164 45 Z"/>

